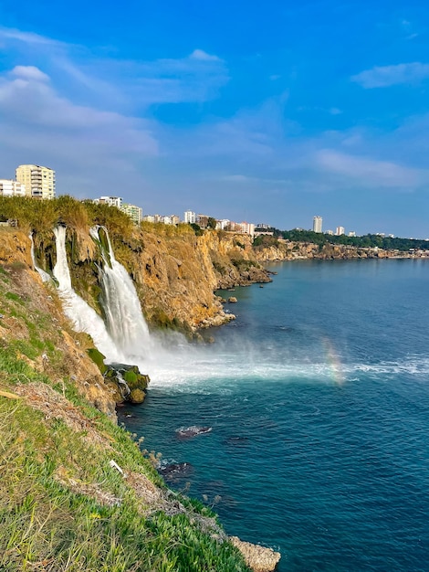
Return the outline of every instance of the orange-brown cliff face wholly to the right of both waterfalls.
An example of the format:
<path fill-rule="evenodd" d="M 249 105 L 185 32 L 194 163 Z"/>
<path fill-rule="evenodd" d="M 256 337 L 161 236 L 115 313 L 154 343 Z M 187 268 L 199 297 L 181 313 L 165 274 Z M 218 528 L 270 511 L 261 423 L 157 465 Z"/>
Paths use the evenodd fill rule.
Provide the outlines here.
<path fill-rule="evenodd" d="M 214 296 L 218 288 L 269 281 L 252 258 L 250 238 L 205 232 L 162 236 L 141 232 L 117 258 L 130 271 L 149 323 L 192 330 L 231 319 Z"/>

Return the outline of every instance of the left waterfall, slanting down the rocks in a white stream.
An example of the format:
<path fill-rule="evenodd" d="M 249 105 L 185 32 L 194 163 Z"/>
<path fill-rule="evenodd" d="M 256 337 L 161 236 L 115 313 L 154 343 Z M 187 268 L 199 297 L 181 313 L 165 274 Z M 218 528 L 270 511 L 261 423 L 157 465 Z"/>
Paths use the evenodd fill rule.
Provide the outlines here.
<path fill-rule="evenodd" d="M 54 228 L 57 246 L 57 263 L 53 273 L 58 280 L 58 293 L 63 302 L 64 312 L 78 332 L 89 334 L 99 351 L 106 355 L 106 361 L 125 362 L 126 358 L 118 350 L 106 326 L 97 312 L 82 300 L 71 286 L 66 253 L 66 228 Z"/>

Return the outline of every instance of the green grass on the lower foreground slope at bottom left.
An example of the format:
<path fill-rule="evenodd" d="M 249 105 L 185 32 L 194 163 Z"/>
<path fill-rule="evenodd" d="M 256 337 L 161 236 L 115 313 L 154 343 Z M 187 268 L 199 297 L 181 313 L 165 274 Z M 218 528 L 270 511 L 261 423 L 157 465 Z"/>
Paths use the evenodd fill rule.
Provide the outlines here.
<path fill-rule="evenodd" d="M 61 419 L 47 421 L 24 402 L 0 397 L 0 570 L 34 570 L 41 563 L 46 567 L 36 569 L 56 572 L 247 570 L 233 546 L 196 524 L 211 515 L 207 508 L 178 496 L 182 514 L 141 510 L 141 499 L 110 459 L 163 487 L 161 478 L 126 431 L 99 412 L 92 417 L 110 436 L 111 449 Z M 88 493 L 90 485 L 117 502 L 100 503 Z"/>

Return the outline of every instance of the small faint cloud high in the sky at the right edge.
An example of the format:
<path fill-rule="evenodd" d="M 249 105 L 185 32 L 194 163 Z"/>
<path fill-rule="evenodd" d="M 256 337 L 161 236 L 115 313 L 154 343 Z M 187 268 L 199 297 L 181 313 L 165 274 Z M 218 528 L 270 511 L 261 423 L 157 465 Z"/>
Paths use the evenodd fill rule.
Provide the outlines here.
<path fill-rule="evenodd" d="M 396 66 L 382 66 L 361 71 L 351 77 L 362 88 L 386 88 L 401 83 L 415 84 L 429 78 L 429 64 L 413 62 Z"/>

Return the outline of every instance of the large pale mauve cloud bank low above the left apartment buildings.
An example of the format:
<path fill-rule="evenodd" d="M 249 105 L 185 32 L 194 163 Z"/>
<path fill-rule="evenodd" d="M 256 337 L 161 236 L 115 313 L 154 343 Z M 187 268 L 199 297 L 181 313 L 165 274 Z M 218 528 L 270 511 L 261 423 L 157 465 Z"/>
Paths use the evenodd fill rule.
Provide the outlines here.
<path fill-rule="evenodd" d="M 3 170 L 6 164 L 53 165 L 59 175 L 58 192 L 76 196 L 119 189 L 124 183 L 141 187 L 139 165 L 158 154 L 152 124 L 78 105 L 61 97 L 42 71 L 18 71 L 26 79 L 0 77 Z"/>

